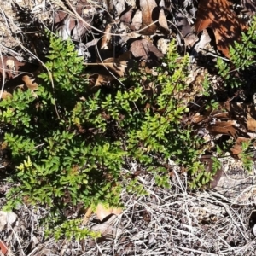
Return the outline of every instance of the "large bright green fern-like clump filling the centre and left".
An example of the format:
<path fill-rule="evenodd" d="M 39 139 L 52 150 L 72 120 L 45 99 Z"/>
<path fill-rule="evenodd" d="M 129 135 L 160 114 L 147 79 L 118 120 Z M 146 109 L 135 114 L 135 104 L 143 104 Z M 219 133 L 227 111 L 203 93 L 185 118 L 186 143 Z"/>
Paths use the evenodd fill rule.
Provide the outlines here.
<path fill-rule="evenodd" d="M 133 69 L 125 86 L 92 90 L 72 42 L 50 36 L 38 90 L 17 90 L 0 102 L 1 121 L 9 125 L 4 139 L 16 165 L 6 208 L 43 205 L 49 211 L 44 224 L 55 228 L 55 237 L 81 239 L 96 234 L 67 234 L 73 224 L 66 221 L 69 207 L 120 206 L 124 188 L 147 193 L 131 173 L 122 175 L 132 162 L 162 187 L 170 187 L 170 160 L 197 177 L 191 188 L 209 182 L 199 160 L 201 139 L 183 123 L 189 56 L 179 58 L 172 42 L 164 61 L 157 75 Z"/>

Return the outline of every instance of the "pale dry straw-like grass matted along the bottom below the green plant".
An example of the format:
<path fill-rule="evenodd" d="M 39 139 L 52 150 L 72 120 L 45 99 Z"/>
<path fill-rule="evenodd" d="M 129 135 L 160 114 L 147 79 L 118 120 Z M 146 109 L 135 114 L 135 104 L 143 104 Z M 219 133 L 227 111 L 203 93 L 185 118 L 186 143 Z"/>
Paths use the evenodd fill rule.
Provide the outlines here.
<path fill-rule="evenodd" d="M 22 206 L 19 224 L 1 238 L 8 239 L 14 255 L 254 255 L 256 241 L 248 223 L 254 197 L 234 203 L 224 191 L 192 193 L 186 176 L 175 174 L 171 189 L 156 187 L 154 177 L 146 174 L 139 179 L 148 195 L 137 198 L 124 191 L 125 210 L 112 224 L 121 230 L 117 236 L 44 240 L 38 218 L 47 212 Z M 91 216 L 88 225 L 97 224 L 96 216 Z"/>

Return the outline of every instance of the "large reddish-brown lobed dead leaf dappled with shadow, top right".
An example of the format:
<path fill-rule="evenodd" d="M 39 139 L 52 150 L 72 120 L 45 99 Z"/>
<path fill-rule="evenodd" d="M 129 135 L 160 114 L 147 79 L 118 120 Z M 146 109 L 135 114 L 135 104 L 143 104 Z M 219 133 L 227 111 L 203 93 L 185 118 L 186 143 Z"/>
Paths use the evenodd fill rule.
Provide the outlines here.
<path fill-rule="evenodd" d="M 241 31 L 246 30 L 241 20 L 230 9 L 227 0 L 201 0 L 196 13 L 195 31 L 212 28 L 218 50 L 230 57 L 229 47 L 241 39 Z"/>

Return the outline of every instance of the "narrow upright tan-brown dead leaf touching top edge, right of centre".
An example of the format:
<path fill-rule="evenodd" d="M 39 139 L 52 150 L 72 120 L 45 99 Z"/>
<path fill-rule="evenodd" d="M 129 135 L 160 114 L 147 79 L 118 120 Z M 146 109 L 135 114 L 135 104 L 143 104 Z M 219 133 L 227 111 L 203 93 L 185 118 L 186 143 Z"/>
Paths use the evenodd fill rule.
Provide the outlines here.
<path fill-rule="evenodd" d="M 143 35 L 153 35 L 156 32 L 157 26 L 153 22 L 159 18 L 159 9 L 155 0 L 140 0 L 140 9 L 142 10 L 142 26 L 140 33 Z"/>

